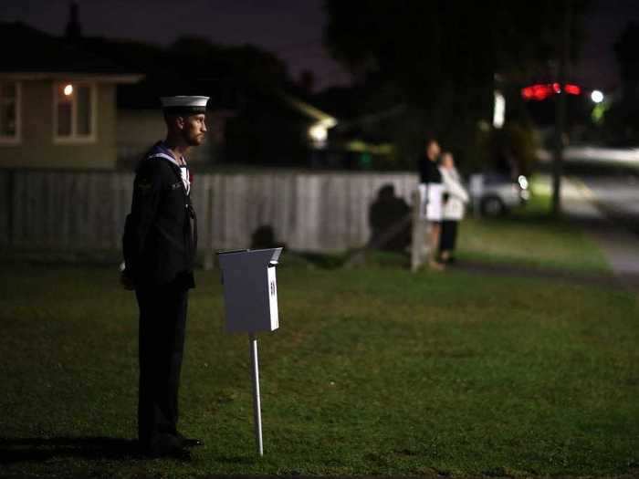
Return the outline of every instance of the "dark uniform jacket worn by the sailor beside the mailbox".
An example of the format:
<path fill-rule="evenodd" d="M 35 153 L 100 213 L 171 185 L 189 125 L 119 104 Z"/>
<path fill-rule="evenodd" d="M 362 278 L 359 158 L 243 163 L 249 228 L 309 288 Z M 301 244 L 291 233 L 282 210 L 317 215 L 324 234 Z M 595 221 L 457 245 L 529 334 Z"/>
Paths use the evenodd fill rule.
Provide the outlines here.
<path fill-rule="evenodd" d="M 188 176 L 157 143 L 136 169 L 122 238 L 125 274 L 136 288 L 194 287 L 197 222 L 189 193 Z"/>

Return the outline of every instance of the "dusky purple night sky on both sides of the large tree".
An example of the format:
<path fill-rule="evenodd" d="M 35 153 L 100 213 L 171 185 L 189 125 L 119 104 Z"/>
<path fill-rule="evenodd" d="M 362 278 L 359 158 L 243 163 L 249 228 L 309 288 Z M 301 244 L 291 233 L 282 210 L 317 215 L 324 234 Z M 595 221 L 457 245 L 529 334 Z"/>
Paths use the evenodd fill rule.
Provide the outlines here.
<path fill-rule="evenodd" d="M 351 0 L 344 0 L 351 1 Z M 393 1 L 393 0 L 389 0 Z M 302 69 L 316 76 L 316 88 L 349 81 L 349 75 L 321 45 L 322 0 L 79 0 L 87 36 L 129 37 L 169 44 L 185 32 L 215 43 L 251 43 L 275 52 L 293 78 Z M 0 0 L 2 20 L 22 20 L 61 34 L 68 0 Z M 573 78 L 589 88 L 619 83 L 613 43 L 628 21 L 639 22 L 639 0 L 592 0 L 589 35 Z"/>

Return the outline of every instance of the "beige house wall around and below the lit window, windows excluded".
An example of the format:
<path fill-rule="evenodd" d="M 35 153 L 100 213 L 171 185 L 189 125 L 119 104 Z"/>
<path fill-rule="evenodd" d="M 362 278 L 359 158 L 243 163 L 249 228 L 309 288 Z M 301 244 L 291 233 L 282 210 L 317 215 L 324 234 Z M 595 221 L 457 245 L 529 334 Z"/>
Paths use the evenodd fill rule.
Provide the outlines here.
<path fill-rule="evenodd" d="M 96 83 L 95 141 L 54 141 L 54 81 L 22 80 L 22 135 L 0 143 L 0 168 L 110 170 L 116 164 L 115 85 Z"/>

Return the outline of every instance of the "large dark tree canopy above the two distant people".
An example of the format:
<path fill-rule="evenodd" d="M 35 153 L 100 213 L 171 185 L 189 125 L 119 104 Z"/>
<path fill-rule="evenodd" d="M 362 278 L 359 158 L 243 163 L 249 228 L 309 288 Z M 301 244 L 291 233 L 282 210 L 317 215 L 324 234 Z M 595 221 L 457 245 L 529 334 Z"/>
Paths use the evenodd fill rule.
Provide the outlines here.
<path fill-rule="evenodd" d="M 573 4 L 579 12 L 585 5 Z M 477 125 L 492 120 L 496 82 L 521 84 L 548 73 L 558 54 L 562 23 L 554 0 L 534 6 L 508 0 L 325 0 L 324 6 L 324 40 L 333 57 L 382 92 L 372 108 L 408 105 L 407 144 L 420 144 L 430 131 L 472 151 Z M 574 24 L 572 38 L 578 38 Z"/>

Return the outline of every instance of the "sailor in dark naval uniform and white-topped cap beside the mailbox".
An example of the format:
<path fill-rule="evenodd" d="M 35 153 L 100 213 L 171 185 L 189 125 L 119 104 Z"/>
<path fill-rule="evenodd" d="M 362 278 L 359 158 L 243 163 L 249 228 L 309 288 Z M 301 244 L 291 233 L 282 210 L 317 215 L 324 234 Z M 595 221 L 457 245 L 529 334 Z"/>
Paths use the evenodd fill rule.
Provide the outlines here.
<path fill-rule="evenodd" d="M 122 238 L 122 285 L 140 309 L 138 437 L 143 453 L 188 456 L 201 445 L 177 431 L 188 290 L 197 226 L 184 155 L 202 144 L 208 97 L 164 97 L 166 140 L 140 161 Z"/>

